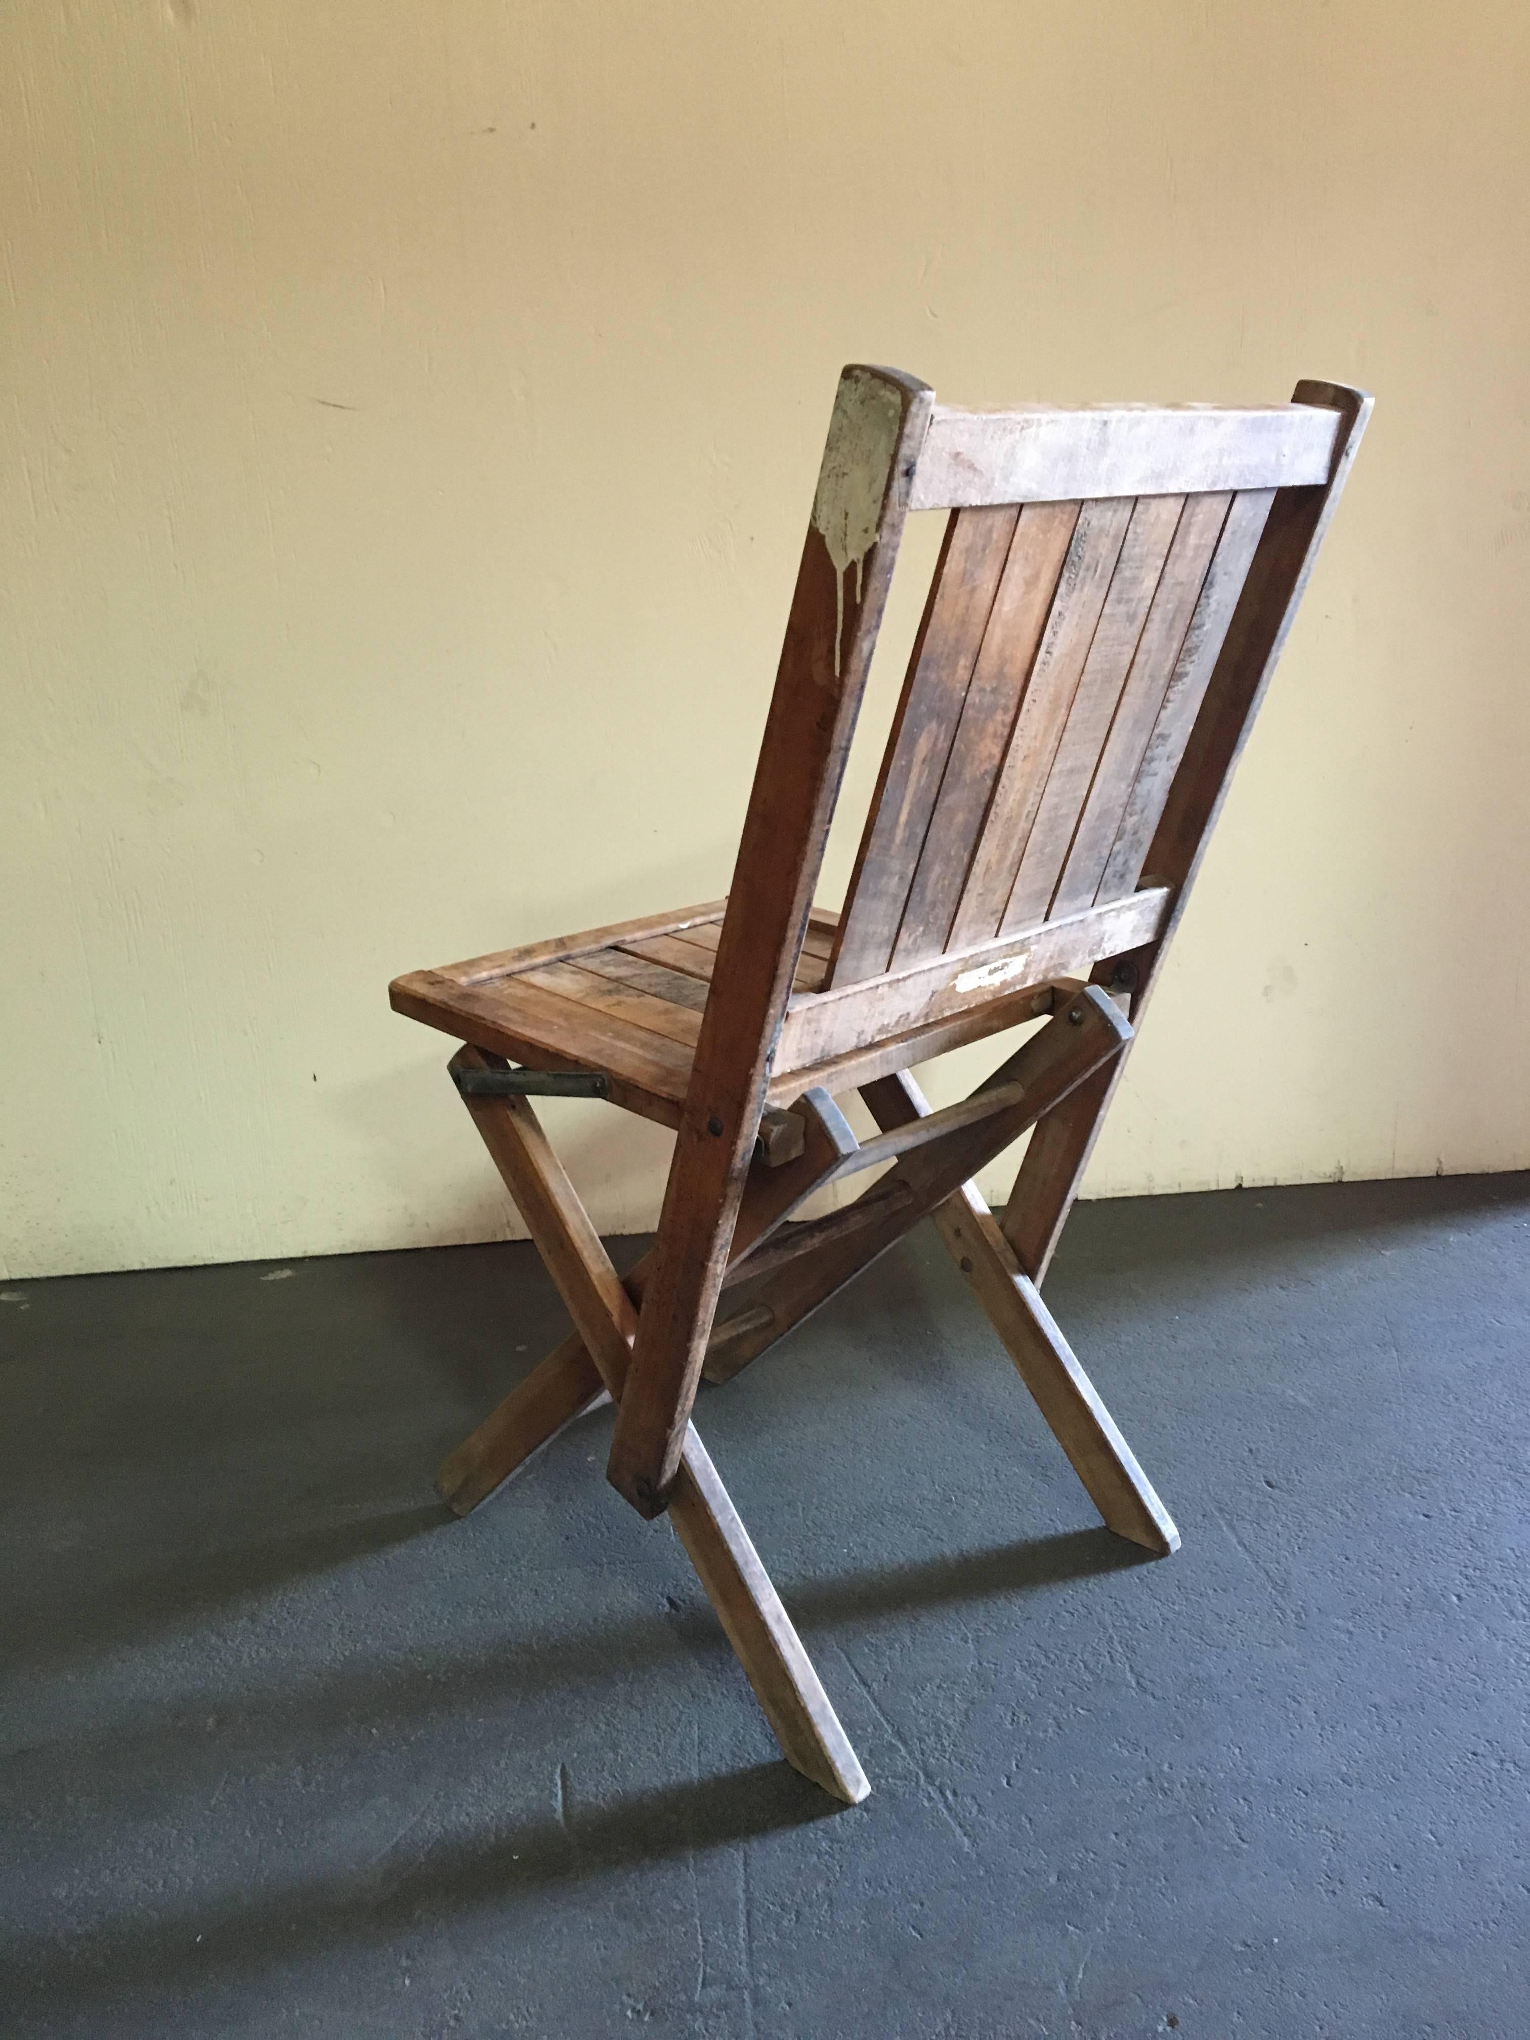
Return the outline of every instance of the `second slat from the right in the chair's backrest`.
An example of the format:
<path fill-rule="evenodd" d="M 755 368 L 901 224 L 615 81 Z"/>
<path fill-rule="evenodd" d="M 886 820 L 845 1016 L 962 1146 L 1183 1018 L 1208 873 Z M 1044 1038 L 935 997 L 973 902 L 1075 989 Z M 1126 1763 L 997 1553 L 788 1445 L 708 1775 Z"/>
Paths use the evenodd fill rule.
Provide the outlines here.
<path fill-rule="evenodd" d="M 1226 492 L 1191 496 L 1185 502 L 1153 598 L 1153 610 L 1126 675 L 1116 718 L 1110 724 L 1110 736 L 1100 751 L 1067 865 L 1053 894 L 1049 908 L 1053 914 L 1077 914 L 1091 906 L 1100 891 L 1110 847 L 1116 840 L 1132 781 L 1183 651 L 1230 502 Z M 1130 887 L 1124 889 L 1130 891 Z"/>

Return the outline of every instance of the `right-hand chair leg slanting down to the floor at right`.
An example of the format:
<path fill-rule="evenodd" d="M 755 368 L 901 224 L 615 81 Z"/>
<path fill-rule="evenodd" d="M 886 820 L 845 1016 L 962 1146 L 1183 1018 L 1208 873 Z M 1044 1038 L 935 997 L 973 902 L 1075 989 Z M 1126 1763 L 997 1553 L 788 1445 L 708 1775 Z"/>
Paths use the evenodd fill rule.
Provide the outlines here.
<path fill-rule="evenodd" d="M 1079 1085 L 1079 1091 L 1093 1091 L 1095 1085 L 1098 1077 Z M 885 1130 L 906 1126 L 930 1110 L 906 1071 L 863 1085 L 861 1095 Z M 1055 1110 L 1067 1110 L 1067 1104 L 1065 1100 Z M 1034 1281 L 1018 1265 L 977 1185 L 963 1183 L 934 1212 L 934 1224 L 1106 1526 L 1161 1557 L 1179 1550 L 1173 1518 L 1079 1367 Z"/>

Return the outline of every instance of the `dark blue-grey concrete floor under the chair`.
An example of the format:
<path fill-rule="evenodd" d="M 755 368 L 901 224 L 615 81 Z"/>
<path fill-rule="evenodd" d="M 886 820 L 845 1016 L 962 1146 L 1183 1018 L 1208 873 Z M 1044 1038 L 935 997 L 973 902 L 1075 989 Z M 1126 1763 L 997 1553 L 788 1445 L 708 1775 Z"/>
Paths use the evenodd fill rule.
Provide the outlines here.
<path fill-rule="evenodd" d="M 1159 1563 L 924 1234 L 698 1410 L 855 1812 L 608 1412 L 435 1503 L 528 1248 L 8 1287 L 0 2030 L 1528 2034 L 1530 1177 L 1075 1216 Z"/>

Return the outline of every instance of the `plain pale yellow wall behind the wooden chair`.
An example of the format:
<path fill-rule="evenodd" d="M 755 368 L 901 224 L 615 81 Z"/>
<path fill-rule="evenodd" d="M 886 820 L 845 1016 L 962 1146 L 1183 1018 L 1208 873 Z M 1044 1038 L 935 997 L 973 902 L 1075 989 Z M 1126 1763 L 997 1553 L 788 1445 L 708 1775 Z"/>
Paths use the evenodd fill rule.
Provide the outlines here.
<path fill-rule="evenodd" d="M 4 8 L 4 1271 L 504 1228 L 386 983 L 724 887 L 847 359 L 1377 392 L 1091 1189 L 1530 1161 L 1528 55 L 1512 0 Z M 559 1132 L 653 1216 L 665 1136 Z"/>

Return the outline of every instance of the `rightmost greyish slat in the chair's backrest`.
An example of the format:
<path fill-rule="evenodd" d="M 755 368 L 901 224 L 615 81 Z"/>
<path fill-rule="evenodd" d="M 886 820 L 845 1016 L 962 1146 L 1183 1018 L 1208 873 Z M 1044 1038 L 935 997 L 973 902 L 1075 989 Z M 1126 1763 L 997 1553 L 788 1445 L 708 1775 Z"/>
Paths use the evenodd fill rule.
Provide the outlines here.
<path fill-rule="evenodd" d="M 1146 847 L 1185 755 L 1273 500 L 1269 490 L 1244 492 L 1228 510 L 1189 634 L 1175 661 L 1100 877 L 1095 896 L 1102 900 L 1130 891 L 1142 875 Z"/>

